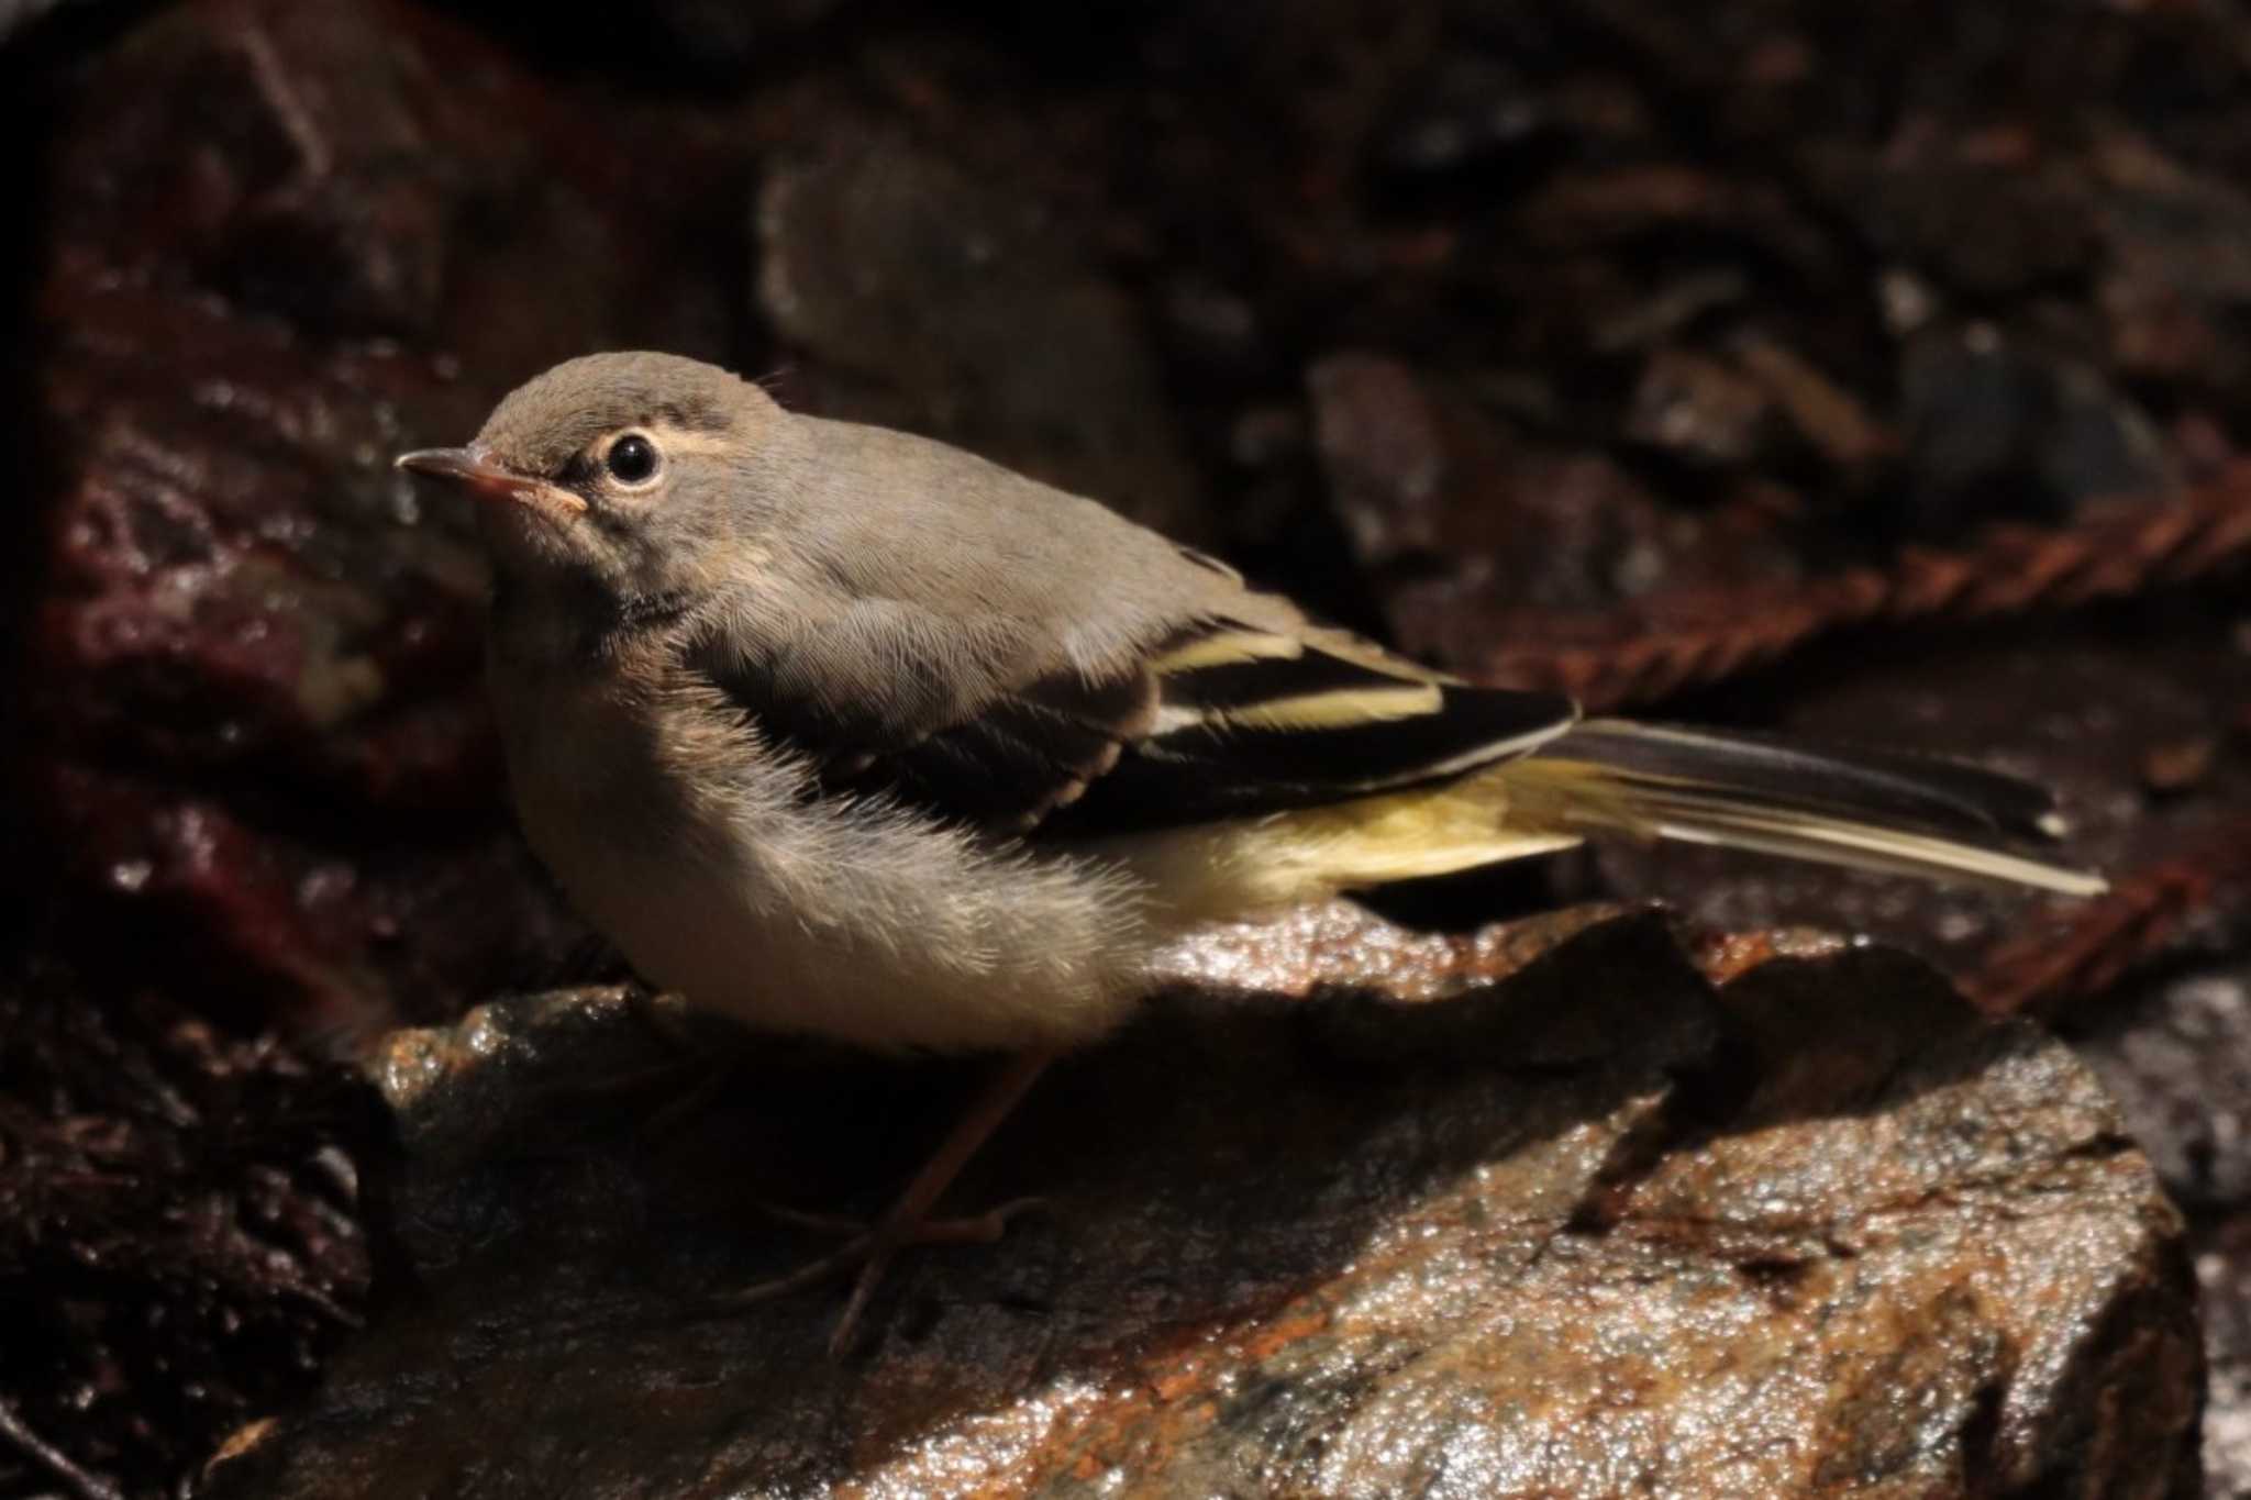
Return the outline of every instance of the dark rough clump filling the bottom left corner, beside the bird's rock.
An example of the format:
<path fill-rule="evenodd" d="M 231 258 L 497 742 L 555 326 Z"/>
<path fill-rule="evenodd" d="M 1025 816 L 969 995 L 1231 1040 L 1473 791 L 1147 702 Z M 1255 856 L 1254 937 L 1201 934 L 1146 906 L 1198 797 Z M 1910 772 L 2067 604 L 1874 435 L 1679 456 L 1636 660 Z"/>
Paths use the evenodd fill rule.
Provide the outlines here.
<path fill-rule="evenodd" d="M 378 1115 L 344 1068 L 176 1001 L 11 976 L 0 1491 L 167 1493 L 225 1433 L 299 1399 L 358 1327 L 353 1163 Z"/>

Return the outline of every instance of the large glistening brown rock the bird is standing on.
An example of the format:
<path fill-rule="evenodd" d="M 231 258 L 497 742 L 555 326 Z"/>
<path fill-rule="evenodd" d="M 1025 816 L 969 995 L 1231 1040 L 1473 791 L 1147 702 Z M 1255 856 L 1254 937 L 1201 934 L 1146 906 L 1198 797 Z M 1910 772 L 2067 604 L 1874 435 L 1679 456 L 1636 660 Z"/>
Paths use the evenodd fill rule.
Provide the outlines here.
<path fill-rule="evenodd" d="M 1366 999 L 1175 994 L 959 1192 L 1047 1210 L 903 1262 L 844 1363 L 833 1295 L 707 1298 L 959 1073 L 768 1048 L 660 1136 L 554 1102 L 662 1061 L 608 992 L 401 1034 L 414 1291 L 209 1493 L 2192 1496 L 2179 1219 L 2069 1050 L 1891 954 L 1715 992 L 1652 931 L 1492 936 L 1373 1050 Z M 1522 1046 L 1564 996 L 1607 1048 Z"/>

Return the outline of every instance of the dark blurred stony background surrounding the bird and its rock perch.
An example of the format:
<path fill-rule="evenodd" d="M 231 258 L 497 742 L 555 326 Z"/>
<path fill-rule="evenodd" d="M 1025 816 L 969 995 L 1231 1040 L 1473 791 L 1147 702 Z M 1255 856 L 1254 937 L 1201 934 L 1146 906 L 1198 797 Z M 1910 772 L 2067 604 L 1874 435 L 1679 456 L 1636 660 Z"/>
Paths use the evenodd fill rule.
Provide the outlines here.
<path fill-rule="evenodd" d="M 621 346 L 1483 681 L 2062 787 L 2091 906 L 1607 850 L 1384 909 L 1661 895 L 2066 1030 L 2251 1493 L 2251 9 L 18 0 L 0 110 L 0 1493 L 306 1390 L 347 1059 L 583 947 L 389 457 Z"/>

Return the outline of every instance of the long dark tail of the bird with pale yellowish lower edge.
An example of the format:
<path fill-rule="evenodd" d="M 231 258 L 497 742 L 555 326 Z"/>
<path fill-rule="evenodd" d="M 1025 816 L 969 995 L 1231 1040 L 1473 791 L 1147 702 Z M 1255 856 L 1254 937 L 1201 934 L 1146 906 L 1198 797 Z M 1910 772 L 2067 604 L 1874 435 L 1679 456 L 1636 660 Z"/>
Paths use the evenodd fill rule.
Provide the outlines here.
<path fill-rule="evenodd" d="M 2100 875 L 2019 852 L 2064 832 L 2042 787 L 1943 760 L 1587 720 L 1495 776 L 1517 825 L 1722 843 L 2064 895 L 2107 888 Z"/>

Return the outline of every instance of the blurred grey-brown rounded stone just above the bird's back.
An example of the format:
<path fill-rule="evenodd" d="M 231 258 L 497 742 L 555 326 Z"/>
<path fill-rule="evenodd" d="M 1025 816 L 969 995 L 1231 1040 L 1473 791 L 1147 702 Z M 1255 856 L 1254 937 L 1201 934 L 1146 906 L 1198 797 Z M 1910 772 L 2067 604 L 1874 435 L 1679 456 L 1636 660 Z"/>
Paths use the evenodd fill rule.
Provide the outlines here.
<path fill-rule="evenodd" d="M 756 301 L 801 405 L 1207 528 L 1137 310 L 1038 205 L 860 128 L 774 166 L 756 234 Z"/>

